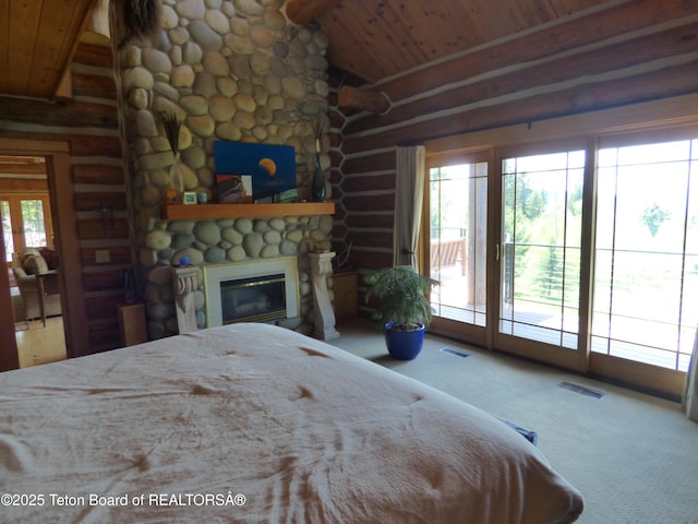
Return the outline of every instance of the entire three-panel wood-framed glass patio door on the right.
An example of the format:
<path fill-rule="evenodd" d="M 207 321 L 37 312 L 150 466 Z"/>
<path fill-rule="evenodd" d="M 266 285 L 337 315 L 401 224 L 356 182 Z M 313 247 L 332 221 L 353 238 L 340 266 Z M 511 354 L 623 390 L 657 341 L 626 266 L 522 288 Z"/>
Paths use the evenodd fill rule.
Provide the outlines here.
<path fill-rule="evenodd" d="M 428 167 L 434 332 L 679 391 L 698 325 L 696 128 Z"/>

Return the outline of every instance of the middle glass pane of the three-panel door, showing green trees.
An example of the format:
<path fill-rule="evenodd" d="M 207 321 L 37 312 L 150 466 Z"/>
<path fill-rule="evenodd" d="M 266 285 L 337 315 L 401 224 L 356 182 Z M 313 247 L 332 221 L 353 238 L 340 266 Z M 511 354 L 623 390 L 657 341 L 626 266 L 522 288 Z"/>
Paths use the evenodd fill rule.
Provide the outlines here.
<path fill-rule="evenodd" d="M 502 163 L 500 333 L 578 347 L 585 156 Z"/>

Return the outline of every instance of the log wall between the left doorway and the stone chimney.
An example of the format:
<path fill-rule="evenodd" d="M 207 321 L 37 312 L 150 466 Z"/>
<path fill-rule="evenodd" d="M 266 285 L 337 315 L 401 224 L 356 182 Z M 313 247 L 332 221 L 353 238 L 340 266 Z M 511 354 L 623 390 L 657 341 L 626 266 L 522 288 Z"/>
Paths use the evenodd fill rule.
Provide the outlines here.
<path fill-rule="evenodd" d="M 84 311 L 75 315 L 87 320 L 87 336 L 79 337 L 84 347 L 69 348 L 80 356 L 120 346 L 116 307 L 123 301 L 120 274 L 131 267 L 132 254 L 111 48 L 80 44 L 71 73 L 71 99 L 0 97 L 0 139 L 69 144 L 73 198 L 55 202 L 60 210 L 53 213 L 70 216 L 79 237 L 77 246 L 62 246 L 61 263 L 79 266 L 82 275 L 82 289 L 69 290 L 84 297 Z M 96 254 L 105 252 L 109 262 L 98 263 Z"/>

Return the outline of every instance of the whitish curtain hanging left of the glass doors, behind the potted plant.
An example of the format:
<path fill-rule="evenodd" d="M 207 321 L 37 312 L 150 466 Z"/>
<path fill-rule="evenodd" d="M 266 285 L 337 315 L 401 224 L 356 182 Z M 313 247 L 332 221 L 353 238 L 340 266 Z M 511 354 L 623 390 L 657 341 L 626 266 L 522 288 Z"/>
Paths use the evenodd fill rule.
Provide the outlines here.
<path fill-rule="evenodd" d="M 417 266 L 419 228 L 424 201 L 424 146 L 398 147 L 395 180 L 395 265 Z"/>

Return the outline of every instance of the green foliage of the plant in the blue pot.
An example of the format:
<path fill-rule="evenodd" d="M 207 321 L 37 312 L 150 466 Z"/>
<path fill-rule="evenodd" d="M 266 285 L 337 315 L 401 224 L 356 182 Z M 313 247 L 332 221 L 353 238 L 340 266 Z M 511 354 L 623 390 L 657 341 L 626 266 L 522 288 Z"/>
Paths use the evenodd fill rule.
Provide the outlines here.
<path fill-rule="evenodd" d="M 371 318 L 380 326 L 387 322 L 401 325 L 422 323 L 429 325 L 432 309 L 426 295 L 437 281 L 419 274 L 410 265 L 385 267 L 365 277 L 369 284 L 366 303 L 373 297 L 380 300 Z"/>

